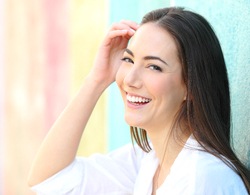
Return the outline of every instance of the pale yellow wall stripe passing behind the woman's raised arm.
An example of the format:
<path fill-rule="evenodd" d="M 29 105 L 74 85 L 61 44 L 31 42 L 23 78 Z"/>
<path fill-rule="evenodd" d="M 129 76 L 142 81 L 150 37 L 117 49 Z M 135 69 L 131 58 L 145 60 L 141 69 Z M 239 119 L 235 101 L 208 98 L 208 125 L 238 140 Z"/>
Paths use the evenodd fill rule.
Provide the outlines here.
<path fill-rule="evenodd" d="M 90 71 L 97 49 L 107 31 L 107 0 L 70 1 L 71 96 L 80 88 Z M 84 131 L 78 155 L 107 151 L 106 93 L 99 99 Z"/>

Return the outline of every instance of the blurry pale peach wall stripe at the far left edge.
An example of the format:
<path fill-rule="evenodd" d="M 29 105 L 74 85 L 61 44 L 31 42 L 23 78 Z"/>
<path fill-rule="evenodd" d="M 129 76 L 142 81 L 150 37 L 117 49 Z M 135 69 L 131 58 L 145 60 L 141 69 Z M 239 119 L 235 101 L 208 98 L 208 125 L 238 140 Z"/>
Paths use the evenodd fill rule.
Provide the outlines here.
<path fill-rule="evenodd" d="M 27 173 L 44 127 L 43 6 L 5 1 L 5 128 L 3 194 L 31 194 Z M 43 41 L 44 42 L 43 42 Z"/>

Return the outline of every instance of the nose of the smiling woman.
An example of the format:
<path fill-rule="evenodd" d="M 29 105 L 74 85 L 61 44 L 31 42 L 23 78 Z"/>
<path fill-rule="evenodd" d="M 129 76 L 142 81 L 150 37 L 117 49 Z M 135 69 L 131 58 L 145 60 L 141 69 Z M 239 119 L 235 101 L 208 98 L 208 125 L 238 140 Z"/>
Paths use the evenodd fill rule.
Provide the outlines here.
<path fill-rule="evenodd" d="M 140 88 L 142 86 L 141 72 L 135 65 L 131 67 L 123 80 L 124 84 L 128 87 Z"/>

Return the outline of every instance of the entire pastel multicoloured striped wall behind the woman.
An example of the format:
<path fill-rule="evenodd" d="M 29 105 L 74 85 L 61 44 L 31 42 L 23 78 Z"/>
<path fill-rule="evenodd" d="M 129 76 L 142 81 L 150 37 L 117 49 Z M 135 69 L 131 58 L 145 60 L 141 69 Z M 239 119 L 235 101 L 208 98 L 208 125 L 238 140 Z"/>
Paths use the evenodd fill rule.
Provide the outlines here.
<path fill-rule="evenodd" d="M 250 168 L 249 0 L 0 0 L 0 195 L 32 195 L 32 159 L 77 92 L 111 23 L 140 22 L 149 10 L 185 6 L 205 16 L 225 54 L 232 95 L 233 145 Z M 78 155 L 130 142 L 113 84 L 101 97 Z"/>

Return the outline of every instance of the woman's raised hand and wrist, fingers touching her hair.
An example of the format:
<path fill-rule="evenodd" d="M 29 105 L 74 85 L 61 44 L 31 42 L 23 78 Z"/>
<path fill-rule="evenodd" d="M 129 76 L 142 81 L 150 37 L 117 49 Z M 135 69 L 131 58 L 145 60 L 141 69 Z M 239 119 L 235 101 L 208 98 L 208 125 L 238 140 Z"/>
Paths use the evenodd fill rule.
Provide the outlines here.
<path fill-rule="evenodd" d="M 97 52 L 88 78 L 101 84 L 104 89 L 115 80 L 124 49 L 137 28 L 135 22 L 127 20 L 112 25 Z"/>

